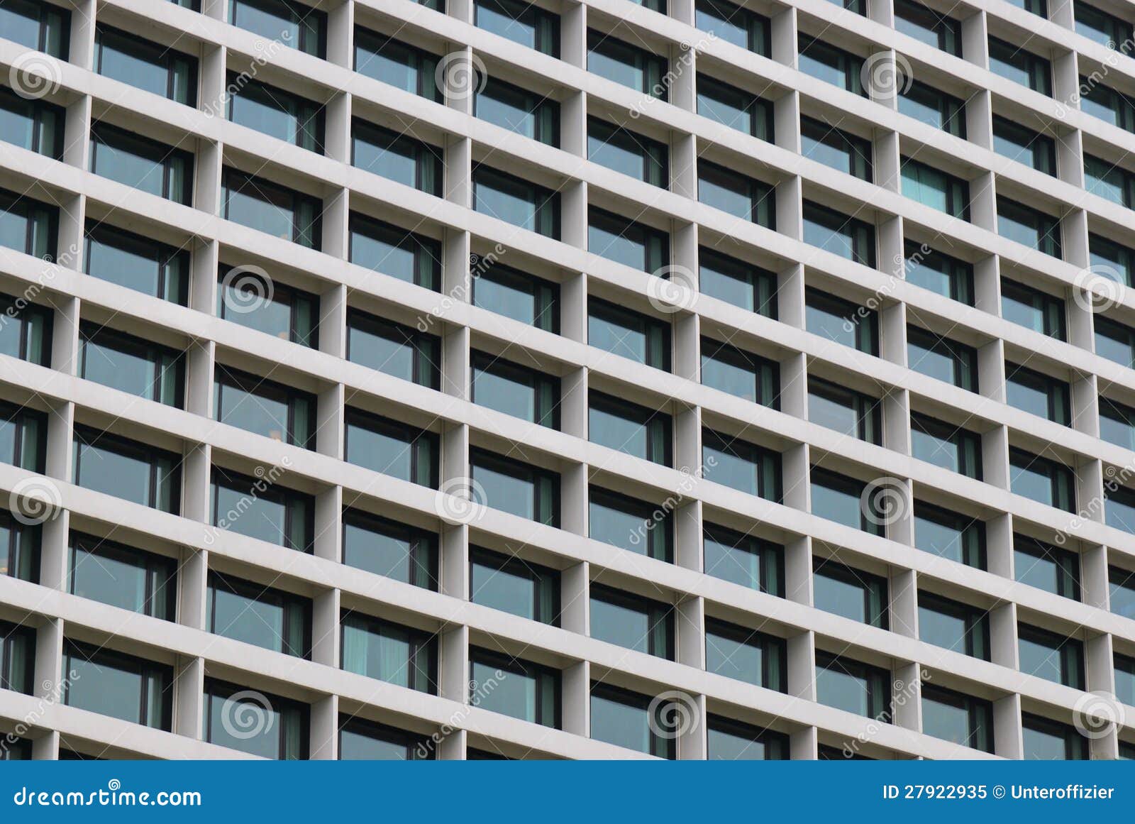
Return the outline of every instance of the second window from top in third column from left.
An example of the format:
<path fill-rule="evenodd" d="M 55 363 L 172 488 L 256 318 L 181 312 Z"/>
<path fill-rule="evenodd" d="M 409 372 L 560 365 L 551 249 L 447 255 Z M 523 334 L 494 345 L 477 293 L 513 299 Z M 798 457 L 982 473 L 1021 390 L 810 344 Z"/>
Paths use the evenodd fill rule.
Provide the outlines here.
<path fill-rule="evenodd" d="M 325 110 L 321 103 L 233 72 L 228 75 L 228 89 L 225 117 L 230 123 L 323 153 Z"/>

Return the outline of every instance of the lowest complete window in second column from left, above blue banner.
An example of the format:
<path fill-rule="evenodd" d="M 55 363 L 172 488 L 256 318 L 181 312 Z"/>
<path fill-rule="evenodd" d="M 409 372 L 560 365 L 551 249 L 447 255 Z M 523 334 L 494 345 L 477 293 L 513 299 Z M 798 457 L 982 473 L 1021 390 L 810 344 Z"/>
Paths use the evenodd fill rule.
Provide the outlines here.
<path fill-rule="evenodd" d="M 64 641 L 64 704 L 170 731 L 174 672 L 133 655 Z"/>

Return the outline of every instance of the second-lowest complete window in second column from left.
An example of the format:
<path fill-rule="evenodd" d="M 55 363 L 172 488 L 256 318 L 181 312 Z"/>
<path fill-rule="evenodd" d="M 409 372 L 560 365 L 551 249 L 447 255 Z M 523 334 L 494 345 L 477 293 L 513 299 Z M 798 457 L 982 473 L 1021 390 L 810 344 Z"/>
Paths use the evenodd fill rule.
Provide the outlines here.
<path fill-rule="evenodd" d="M 67 591 L 162 621 L 177 612 L 177 560 L 73 532 Z"/>

